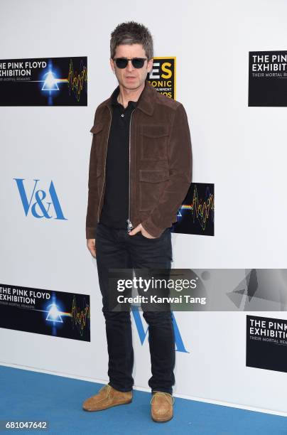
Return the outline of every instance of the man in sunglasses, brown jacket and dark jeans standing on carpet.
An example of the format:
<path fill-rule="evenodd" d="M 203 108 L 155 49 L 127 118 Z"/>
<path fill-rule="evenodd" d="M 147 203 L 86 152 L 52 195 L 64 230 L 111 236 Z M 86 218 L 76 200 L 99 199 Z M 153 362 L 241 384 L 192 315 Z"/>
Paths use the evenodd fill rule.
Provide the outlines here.
<path fill-rule="evenodd" d="M 83 403 L 98 411 L 132 400 L 130 311 L 109 306 L 109 269 L 170 268 L 170 227 L 191 182 L 192 153 L 183 104 L 146 80 L 153 40 L 134 21 L 112 32 L 110 64 L 119 86 L 94 115 L 87 247 L 97 258 L 109 354 L 109 383 Z M 97 255 L 96 255 L 97 252 Z M 152 377 L 151 417 L 173 417 L 175 337 L 170 311 L 144 311 Z"/>

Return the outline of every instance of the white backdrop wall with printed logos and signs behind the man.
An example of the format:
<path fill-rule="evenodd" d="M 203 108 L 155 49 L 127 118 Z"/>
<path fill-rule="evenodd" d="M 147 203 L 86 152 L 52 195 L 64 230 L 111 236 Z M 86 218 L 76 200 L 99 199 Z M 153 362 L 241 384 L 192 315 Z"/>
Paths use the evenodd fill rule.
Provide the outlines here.
<path fill-rule="evenodd" d="M 47 4 L 13 3 L 2 2 L 0 29 L 0 363 L 107 382 L 85 240 L 90 127 L 117 87 L 110 33 L 134 20 L 154 38 L 147 79 L 183 103 L 193 146 L 193 182 L 172 227 L 175 395 L 287 413 L 287 30 L 269 21 L 287 5 L 180 0 L 158 19 L 131 1 L 126 10 L 86 1 L 87 25 L 75 33 L 76 4 L 63 1 L 68 14 L 55 17 Z M 184 280 L 195 283 L 189 292 Z M 134 378 L 148 389 L 138 302 Z"/>

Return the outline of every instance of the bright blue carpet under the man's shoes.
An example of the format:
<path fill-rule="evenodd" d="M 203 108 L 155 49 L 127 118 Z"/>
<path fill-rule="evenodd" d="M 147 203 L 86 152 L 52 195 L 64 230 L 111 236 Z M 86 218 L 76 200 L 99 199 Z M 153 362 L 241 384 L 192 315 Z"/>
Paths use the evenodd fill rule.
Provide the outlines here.
<path fill-rule="evenodd" d="M 48 421 L 46 431 L 14 429 L 6 434 L 195 434 L 287 435 L 286 417 L 175 397 L 174 417 L 154 423 L 151 394 L 134 391 L 131 404 L 86 412 L 82 402 L 102 385 L 0 366 L 0 420 Z"/>

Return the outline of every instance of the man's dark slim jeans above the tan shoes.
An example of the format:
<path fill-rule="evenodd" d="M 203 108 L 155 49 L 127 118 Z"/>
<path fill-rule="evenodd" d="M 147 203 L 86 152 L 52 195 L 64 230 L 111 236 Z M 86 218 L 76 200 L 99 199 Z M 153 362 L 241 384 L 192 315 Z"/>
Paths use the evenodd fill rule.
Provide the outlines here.
<path fill-rule="evenodd" d="M 109 354 L 109 385 L 116 390 L 131 391 L 134 385 L 132 371 L 134 350 L 131 338 L 130 311 L 109 311 L 109 269 L 170 269 L 172 247 L 170 228 L 161 237 L 148 239 L 141 232 L 130 236 L 126 230 L 117 230 L 99 222 L 96 233 L 97 270 L 106 321 Z M 144 308 L 143 308 L 144 309 Z M 172 394 L 175 383 L 175 334 L 169 311 L 144 311 L 148 323 L 148 341 L 151 353 L 151 373 L 148 380 L 151 392 Z"/>

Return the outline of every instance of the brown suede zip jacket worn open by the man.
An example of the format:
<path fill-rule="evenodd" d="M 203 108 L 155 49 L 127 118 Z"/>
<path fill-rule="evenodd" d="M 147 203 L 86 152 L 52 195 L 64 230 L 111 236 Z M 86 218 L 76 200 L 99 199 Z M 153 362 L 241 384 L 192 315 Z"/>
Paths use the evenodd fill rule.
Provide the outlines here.
<path fill-rule="evenodd" d="M 94 114 L 88 182 L 86 238 L 95 239 L 104 203 L 105 165 L 112 122 L 111 97 Z M 192 180 L 188 117 L 183 104 L 146 80 L 131 114 L 129 134 L 129 221 L 153 237 L 177 220 Z"/>

